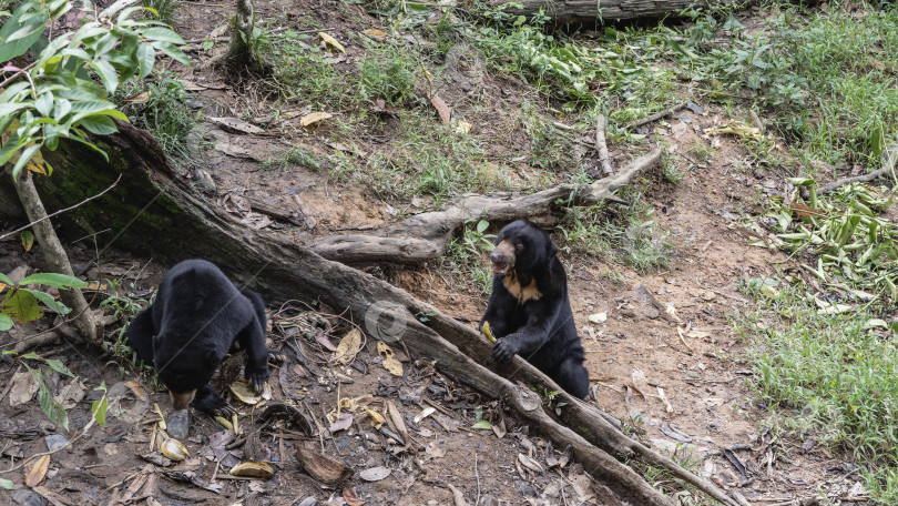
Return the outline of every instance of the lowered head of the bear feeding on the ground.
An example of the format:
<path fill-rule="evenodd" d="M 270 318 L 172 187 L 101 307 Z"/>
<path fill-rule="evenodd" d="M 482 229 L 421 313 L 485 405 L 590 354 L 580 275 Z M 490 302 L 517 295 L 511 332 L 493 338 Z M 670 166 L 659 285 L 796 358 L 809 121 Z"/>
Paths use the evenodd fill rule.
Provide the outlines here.
<path fill-rule="evenodd" d="M 193 402 L 196 389 L 212 380 L 222 360 L 218 351 L 196 346 L 190 336 L 153 336 L 153 365 L 175 409 Z"/>

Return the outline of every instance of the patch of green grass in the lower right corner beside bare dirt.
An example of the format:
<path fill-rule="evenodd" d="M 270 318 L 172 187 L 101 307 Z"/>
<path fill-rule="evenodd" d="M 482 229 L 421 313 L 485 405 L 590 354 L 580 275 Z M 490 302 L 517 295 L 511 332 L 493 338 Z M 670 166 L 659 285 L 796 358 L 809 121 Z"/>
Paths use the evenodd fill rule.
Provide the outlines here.
<path fill-rule="evenodd" d="M 799 437 L 844 447 L 865 467 L 867 488 L 882 504 L 898 504 L 898 337 L 868 328 L 863 310 L 818 313 L 804 285 L 763 289 L 749 280 L 744 293 L 759 308 L 738 317 L 753 342 L 748 360 L 769 424 Z"/>

